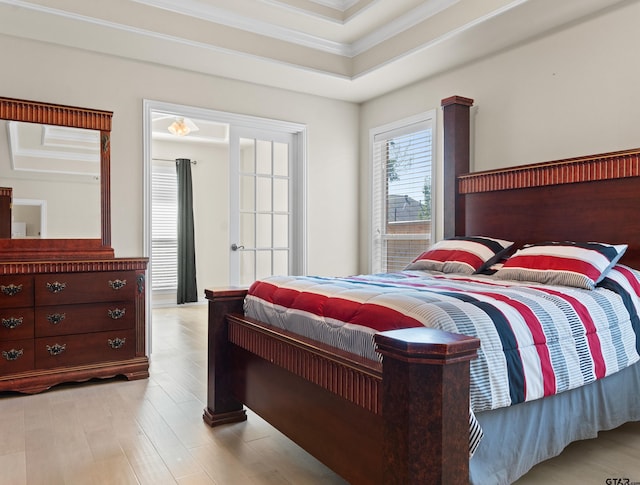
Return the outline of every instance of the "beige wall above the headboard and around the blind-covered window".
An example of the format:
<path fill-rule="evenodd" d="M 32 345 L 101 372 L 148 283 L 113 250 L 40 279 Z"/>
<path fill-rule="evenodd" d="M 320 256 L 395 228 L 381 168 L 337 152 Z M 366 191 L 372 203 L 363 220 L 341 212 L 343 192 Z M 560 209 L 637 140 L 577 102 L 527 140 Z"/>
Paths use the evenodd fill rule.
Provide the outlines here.
<path fill-rule="evenodd" d="M 369 177 L 372 127 L 434 108 L 441 173 L 440 100 L 452 95 L 475 100 L 473 171 L 640 147 L 638 19 L 640 2 L 626 2 L 601 17 L 364 103 L 360 179 Z M 366 183 L 361 188 L 360 265 L 366 268 L 369 191 Z M 440 224 L 436 236 L 441 233 Z"/>

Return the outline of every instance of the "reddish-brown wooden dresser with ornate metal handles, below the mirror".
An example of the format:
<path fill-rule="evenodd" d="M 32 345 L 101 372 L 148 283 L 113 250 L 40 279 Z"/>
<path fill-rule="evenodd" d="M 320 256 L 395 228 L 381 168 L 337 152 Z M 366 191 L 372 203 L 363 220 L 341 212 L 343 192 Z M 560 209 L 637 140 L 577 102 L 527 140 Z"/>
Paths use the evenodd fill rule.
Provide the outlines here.
<path fill-rule="evenodd" d="M 0 263 L 0 391 L 149 376 L 146 259 Z"/>

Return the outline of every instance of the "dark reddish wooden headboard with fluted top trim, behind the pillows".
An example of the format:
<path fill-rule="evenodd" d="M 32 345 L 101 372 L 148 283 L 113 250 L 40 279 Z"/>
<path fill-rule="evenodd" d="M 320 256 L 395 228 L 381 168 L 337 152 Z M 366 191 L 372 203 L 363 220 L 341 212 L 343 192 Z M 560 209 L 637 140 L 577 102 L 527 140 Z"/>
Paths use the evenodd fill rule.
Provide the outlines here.
<path fill-rule="evenodd" d="M 458 109 L 468 110 L 473 102 L 454 98 L 467 100 Z M 452 144 L 468 137 L 468 128 L 445 135 Z M 450 213 L 456 235 L 499 237 L 518 247 L 542 241 L 625 243 L 621 262 L 640 269 L 640 149 L 467 174 L 458 169 L 455 180 Z"/>

